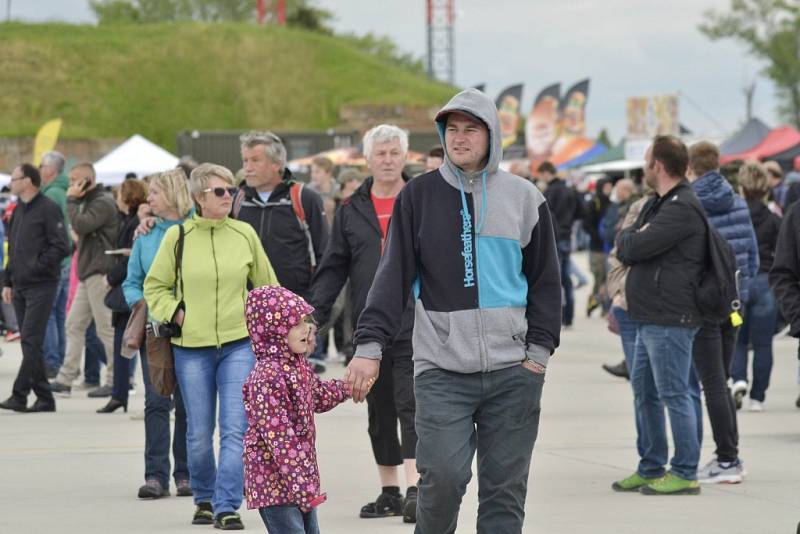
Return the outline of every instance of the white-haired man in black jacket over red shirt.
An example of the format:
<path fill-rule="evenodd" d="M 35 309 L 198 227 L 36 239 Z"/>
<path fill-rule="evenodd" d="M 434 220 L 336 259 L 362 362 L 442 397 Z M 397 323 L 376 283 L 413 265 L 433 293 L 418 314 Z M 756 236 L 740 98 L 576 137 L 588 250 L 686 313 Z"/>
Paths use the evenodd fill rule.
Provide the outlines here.
<path fill-rule="evenodd" d="M 364 154 L 372 176 L 344 200 L 336 212 L 330 244 L 312 287 L 311 302 L 317 309 L 320 324 L 327 323 L 333 303 L 348 279 L 353 324 L 358 321 L 383 253 L 394 200 L 407 181 L 402 174 L 407 152 L 408 135 L 397 126 L 381 124 L 364 135 Z M 417 434 L 414 431 L 413 326 L 414 308 L 408 306 L 402 327 L 384 351 L 377 381 L 367 395 L 368 432 L 383 490 L 375 502 L 361 509 L 361 517 L 402 513 L 406 522 L 416 521 L 419 475 L 414 460 Z M 400 494 L 398 465 L 405 466 L 405 502 Z"/>

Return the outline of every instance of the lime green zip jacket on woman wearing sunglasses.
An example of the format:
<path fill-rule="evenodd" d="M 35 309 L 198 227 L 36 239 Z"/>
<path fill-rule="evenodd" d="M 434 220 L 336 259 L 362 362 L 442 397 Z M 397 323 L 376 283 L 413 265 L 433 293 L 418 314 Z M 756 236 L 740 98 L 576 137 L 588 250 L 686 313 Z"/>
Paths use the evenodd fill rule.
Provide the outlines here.
<path fill-rule="evenodd" d="M 279 285 L 258 234 L 247 223 L 231 218 L 194 215 L 183 224 L 182 337 L 180 347 L 220 347 L 248 337 L 245 324 L 247 283 Z M 171 321 L 181 301 L 175 280 L 179 225 L 167 230 L 144 280 L 144 298 L 153 319 Z M 173 288 L 175 293 L 173 294 Z"/>

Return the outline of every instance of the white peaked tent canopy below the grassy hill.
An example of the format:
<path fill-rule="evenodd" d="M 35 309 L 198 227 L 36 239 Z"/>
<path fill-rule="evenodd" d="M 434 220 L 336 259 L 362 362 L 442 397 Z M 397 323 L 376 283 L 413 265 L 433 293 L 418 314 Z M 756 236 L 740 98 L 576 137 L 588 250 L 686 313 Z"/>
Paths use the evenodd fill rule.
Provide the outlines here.
<path fill-rule="evenodd" d="M 142 137 L 134 135 L 94 164 L 97 181 L 119 184 L 129 172 L 143 178 L 154 172 L 166 171 L 178 164 L 178 158 Z"/>

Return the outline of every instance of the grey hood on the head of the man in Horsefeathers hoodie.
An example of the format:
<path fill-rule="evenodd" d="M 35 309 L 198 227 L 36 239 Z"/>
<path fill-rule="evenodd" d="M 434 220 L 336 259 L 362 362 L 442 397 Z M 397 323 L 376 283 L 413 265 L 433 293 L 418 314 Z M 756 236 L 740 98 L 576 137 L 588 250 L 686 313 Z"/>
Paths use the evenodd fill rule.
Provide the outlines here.
<path fill-rule="evenodd" d="M 441 139 L 442 146 L 444 147 L 445 166 L 447 166 L 456 175 L 463 173 L 463 171 L 457 169 L 455 164 L 450 161 L 450 158 L 447 155 L 447 144 L 445 143 L 444 139 L 444 129 L 447 125 L 447 115 L 454 111 L 468 113 L 486 125 L 489 130 L 488 160 L 486 167 L 478 171 L 478 173 L 486 171 L 487 174 L 493 174 L 497 172 L 497 169 L 500 166 L 500 160 L 503 159 L 503 139 L 500 132 L 500 119 L 497 116 L 497 108 L 495 107 L 494 102 L 477 89 L 467 89 L 465 91 L 461 91 L 456 96 L 451 98 L 450 102 L 448 102 L 447 105 L 445 105 L 441 110 L 439 110 L 439 113 L 436 114 L 436 129 L 439 131 L 439 138 Z"/>

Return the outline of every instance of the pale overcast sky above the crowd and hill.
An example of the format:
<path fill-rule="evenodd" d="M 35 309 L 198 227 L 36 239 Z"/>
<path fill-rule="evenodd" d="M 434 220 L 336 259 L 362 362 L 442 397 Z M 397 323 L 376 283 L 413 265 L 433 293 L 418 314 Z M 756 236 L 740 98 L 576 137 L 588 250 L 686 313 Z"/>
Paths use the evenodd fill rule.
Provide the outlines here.
<path fill-rule="evenodd" d="M 455 82 L 486 83 L 492 97 L 525 84 L 523 111 L 539 89 L 562 90 L 591 78 L 587 125 L 594 135 L 625 134 L 625 99 L 679 93 L 683 124 L 724 137 L 744 120 L 745 83 L 757 79 L 754 113 L 777 126 L 771 82 L 763 64 L 732 41 L 712 42 L 697 30 L 702 12 L 729 0 L 454 0 Z M 255 4 L 255 0 L 253 0 Z M 316 0 L 333 11 L 337 31 L 388 35 L 423 57 L 425 0 Z M 6 2 L 0 2 L 5 9 Z M 5 13 L 3 13 L 5 15 Z M 95 22 L 86 0 L 13 0 L 12 18 Z"/>

